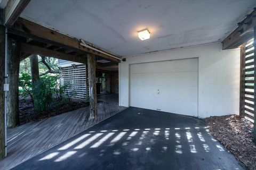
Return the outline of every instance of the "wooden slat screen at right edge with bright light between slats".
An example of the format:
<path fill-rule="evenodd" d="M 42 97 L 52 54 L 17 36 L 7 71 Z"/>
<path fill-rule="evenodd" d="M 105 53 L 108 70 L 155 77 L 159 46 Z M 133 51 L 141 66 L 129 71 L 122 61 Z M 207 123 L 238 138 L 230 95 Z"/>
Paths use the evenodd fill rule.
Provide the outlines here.
<path fill-rule="evenodd" d="M 240 114 L 254 121 L 254 47 L 253 39 L 241 46 Z"/>

